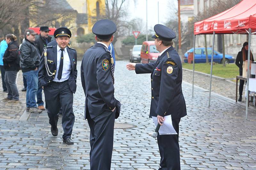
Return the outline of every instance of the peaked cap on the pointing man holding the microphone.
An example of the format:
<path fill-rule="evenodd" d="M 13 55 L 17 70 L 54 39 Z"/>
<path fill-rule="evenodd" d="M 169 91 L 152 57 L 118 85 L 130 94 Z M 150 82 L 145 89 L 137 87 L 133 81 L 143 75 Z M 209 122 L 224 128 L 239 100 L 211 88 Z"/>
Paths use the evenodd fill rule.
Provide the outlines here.
<path fill-rule="evenodd" d="M 154 31 L 156 32 L 151 38 L 156 39 L 159 38 L 164 41 L 172 41 L 172 39 L 176 38 L 175 32 L 167 26 L 156 24 L 154 26 Z"/>

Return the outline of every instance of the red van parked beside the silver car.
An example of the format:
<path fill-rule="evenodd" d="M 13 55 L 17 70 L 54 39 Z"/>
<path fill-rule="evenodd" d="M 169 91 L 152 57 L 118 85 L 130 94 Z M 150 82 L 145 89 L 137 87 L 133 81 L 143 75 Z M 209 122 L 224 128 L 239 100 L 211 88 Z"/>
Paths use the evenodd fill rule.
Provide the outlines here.
<path fill-rule="evenodd" d="M 144 41 L 142 43 L 140 58 L 141 63 L 151 63 L 157 60 L 159 51 L 156 50 L 155 41 Z"/>

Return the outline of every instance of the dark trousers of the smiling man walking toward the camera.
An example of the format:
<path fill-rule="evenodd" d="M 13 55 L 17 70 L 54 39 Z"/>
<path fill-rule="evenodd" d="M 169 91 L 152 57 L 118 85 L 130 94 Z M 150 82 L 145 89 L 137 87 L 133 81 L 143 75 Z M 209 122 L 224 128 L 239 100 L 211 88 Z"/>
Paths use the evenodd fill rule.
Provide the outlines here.
<path fill-rule="evenodd" d="M 63 139 L 71 137 L 75 115 L 73 112 L 73 93 L 68 81 L 54 82 L 44 87 L 46 109 L 48 110 L 49 123 L 53 128 L 57 127 L 60 107 L 62 108 Z"/>

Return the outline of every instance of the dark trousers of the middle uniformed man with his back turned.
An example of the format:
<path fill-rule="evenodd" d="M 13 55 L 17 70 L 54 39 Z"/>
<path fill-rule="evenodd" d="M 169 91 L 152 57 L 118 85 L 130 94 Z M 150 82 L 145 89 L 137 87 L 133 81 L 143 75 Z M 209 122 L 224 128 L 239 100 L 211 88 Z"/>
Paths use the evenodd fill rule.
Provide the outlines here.
<path fill-rule="evenodd" d="M 91 118 L 86 115 L 90 126 L 90 166 L 91 170 L 110 170 L 114 140 L 115 113 L 104 110 Z"/>

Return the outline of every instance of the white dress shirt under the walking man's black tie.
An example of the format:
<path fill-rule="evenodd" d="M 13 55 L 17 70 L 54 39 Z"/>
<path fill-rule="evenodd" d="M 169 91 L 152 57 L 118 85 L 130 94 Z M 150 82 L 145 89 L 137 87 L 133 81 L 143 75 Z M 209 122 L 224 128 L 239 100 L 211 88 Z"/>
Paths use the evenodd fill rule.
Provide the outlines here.
<path fill-rule="evenodd" d="M 70 72 L 71 72 L 71 63 L 67 51 L 67 47 L 63 51 L 63 69 L 62 69 L 62 74 L 61 74 L 61 79 L 58 80 L 58 72 L 59 72 L 59 67 L 60 67 L 60 56 L 61 56 L 61 50 L 60 47 L 57 45 L 57 69 L 56 69 L 56 74 L 53 79 L 53 81 L 56 82 L 62 82 L 66 81 L 69 78 Z"/>

